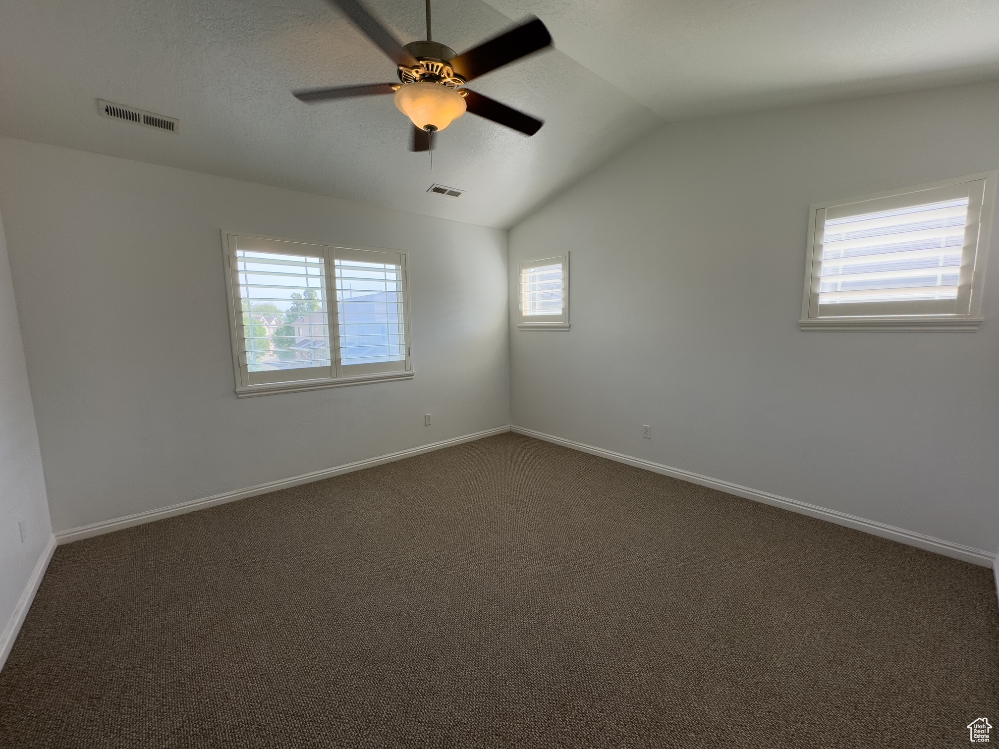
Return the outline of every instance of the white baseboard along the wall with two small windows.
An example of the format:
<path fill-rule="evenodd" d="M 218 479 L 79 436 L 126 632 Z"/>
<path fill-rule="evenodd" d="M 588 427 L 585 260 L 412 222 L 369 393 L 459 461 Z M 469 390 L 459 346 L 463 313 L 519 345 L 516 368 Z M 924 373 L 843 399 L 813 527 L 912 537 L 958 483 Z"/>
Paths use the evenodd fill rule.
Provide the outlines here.
<path fill-rule="evenodd" d="M 628 465 L 634 465 L 637 468 L 645 468 L 646 470 L 652 470 L 656 473 L 662 473 L 667 476 L 672 476 L 673 478 L 679 478 L 683 481 L 689 481 L 690 483 L 696 483 L 701 486 L 718 489 L 719 491 L 735 494 L 736 496 L 741 496 L 746 499 L 753 499 L 757 502 L 772 504 L 776 507 L 783 507 L 784 509 L 789 509 L 792 512 L 800 512 L 803 515 L 817 517 L 820 520 L 828 520 L 829 522 L 834 522 L 837 525 L 845 525 L 848 528 L 863 530 L 867 533 L 881 536 L 882 538 L 890 538 L 893 541 L 907 543 L 910 546 L 918 546 L 919 548 L 926 549 L 927 551 L 935 551 L 936 553 L 943 554 L 944 556 L 962 559 L 964 561 L 972 562 L 973 564 L 981 564 L 985 567 L 999 568 L 999 565 L 995 564 L 997 559 L 996 554 L 984 551 L 983 549 L 964 546 L 960 543 L 954 543 L 952 541 L 945 541 L 941 538 L 934 538 L 932 536 L 923 535 L 922 533 L 916 533 L 912 530 L 905 530 L 904 528 L 896 528 L 893 525 L 886 525 L 875 520 L 867 520 L 863 517 L 857 517 L 856 515 L 839 512 L 838 510 L 826 509 L 825 507 L 819 507 L 815 504 L 799 502 L 796 499 L 788 499 L 785 496 L 778 496 L 777 494 L 771 494 L 767 491 L 759 491 L 757 489 L 751 489 L 748 486 L 740 486 L 737 483 L 722 481 L 718 478 L 711 478 L 710 476 L 702 476 L 699 473 L 692 473 L 689 470 L 673 468 L 669 465 L 652 462 L 651 460 L 644 460 L 640 457 L 632 457 L 631 455 L 624 455 L 620 452 L 605 450 L 602 447 L 594 447 L 590 444 L 574 442 L 571 439 L 563 439 L 562 437 L 557 437 L 552 434 L 545 434 L 542 431 L 534 431 L 533 429 L 527 429 L 522 426 L 510 426 L 509 428 L 510 431 L 515 431 L 517 434 L 536 437 L 537 439 L 554 442 L 555 444 L 560 444 L 564 447 L 570 447 L 582 452 L 588 452 L 591 455 L 607 457 L 611 460 L 627 463 Z M 996 575 L 996 584 L 999 586 L 999 569 L 997 569 Z"/>

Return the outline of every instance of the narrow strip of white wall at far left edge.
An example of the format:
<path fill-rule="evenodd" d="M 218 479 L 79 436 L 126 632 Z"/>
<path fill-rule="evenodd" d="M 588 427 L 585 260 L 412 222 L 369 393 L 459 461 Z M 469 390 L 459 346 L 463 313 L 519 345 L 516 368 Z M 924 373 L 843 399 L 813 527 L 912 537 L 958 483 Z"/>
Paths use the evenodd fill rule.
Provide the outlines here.
<path fill-rule="evenodd" d="M 24 541 L 18 521 L 24 521 Z M 52 525 L 35 413 L 0 220 L 0 667 L 24 615 L 18 604 L 46 553 Z M 28 595 L 33 590 L 28 590 Z"/>

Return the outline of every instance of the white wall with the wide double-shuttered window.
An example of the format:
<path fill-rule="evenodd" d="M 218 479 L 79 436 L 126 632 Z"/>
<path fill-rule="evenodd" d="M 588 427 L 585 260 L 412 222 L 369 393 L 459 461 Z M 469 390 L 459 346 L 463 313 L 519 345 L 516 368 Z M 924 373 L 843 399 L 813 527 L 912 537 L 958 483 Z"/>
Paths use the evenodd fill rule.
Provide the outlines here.
<path fill-rule="evenodd" d="M 0 210 L 57 530 L 508 422 L 503 231 L 10 139 Z M 220 229 L 409 250 L 416 377 L 238 399 Z"/>

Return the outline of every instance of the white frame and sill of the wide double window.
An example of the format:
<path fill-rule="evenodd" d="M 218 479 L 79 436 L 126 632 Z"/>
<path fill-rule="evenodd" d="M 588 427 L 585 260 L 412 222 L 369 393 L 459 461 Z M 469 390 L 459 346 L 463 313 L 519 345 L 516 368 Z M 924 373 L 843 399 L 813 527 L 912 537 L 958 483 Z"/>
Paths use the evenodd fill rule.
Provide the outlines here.
<path fill-rule="evenodd" d="M 226 276 L 226 301 L 229 310 L 229 340 L 233 356 L 233 370 L 236 379 L 237 397 L 255 397 L 257 395 L 271 395 L 278 392 L 301 392 L 305 390 L 325 389 L 327 387 L 346 387 L 355 384 L 367 384 L 369 382 L 393 382 L 401 379 L 413 379 L 416 375 L 413 363 L 413 334 L 410 313 L 410 274 L 408 251 L 397 250 L 395 248 L 368 247 L 365 245 L 346 244 L 341 242 L 274 237 L 270 235 L 258 234 L 256 232 L 234 232 L 222 230 L 221 234 L 223 267 Z M 237 271 L 238 265 L 236 263 L 237 237 L 263 240 L 264 242 L 289 242 L 323 248 L 324 260 L 326 261 L 327 290 L 329 295 L 328 325 L 330 329 L 330 348 L 334 362 L 330 368 L 316 369 L 330 370 L 332 372 L 332 376 L 305 376 L 301 379 L 251 384 L 249 370 L 245 364 L 245 352 L 243 351 L 245 348 L 245 342 L 241 333 L 243 325 L 243 308 L 239 291 L 239 273 Z M 407 357 L 404 362 L 400 363 L 403 366 L 401 369 L 387 372 L 367 372 L 364 374 L 344 375 L 344 366 L 340 361 L 339 305 L 337 303 L 336 272 L 334 269 L 334 261 L 336 259 L 337 250 L 389 253 L 400 257 L 403 266 L 403 330 L 405 332 L 407 342 Z M 349 366 L 349 369 L 357 367 L 368 368 L 369 366 L 353 365 Z M 291 372 L 295 371 L 293 370 Z M 357 372 L 357 370 L 355 370 L 355 372 Z"/>

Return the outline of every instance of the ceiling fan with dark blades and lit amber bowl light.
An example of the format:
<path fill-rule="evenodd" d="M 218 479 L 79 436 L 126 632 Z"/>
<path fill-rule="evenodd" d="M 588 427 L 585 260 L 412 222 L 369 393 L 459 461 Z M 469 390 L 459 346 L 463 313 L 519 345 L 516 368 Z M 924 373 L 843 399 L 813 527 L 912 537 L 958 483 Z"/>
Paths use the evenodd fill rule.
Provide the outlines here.
<path fill-rule="evenodd" d="M 396 107 L 413 122 L 411 151 L 431 151 L 434 134 L 471 112 L 524 135 L 542 123 L 488 96 L 463 88 L 466 83 L 551 44 L 544 24 L 532 18 L 461 55 L 431 37 L 431 0 L 427 2 L 427 39 L 403 46 L 358 0 L 331 0 L 399 66 L 402 83 L 300 89 L 292 94 L 304 102 L 324 102 L 352 96 L 395 94 Z"/>

